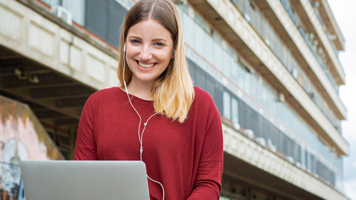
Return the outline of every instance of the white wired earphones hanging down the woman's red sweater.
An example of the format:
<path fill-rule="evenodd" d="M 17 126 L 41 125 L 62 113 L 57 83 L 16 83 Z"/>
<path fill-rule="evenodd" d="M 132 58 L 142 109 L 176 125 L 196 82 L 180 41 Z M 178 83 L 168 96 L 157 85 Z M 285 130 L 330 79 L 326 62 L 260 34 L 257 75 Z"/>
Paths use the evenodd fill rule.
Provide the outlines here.
<path fill-rule="evenodd" d="M 147 123 L 148 121 L 155 115 L 157 115 L 159 112 L 162 112 L 163 110 L 167 109 L 167 107 L 170 105 L 170 103 L 172 102 L 172 98 L 171 100 L 169 101 L 168 105 L 166 107 L 164 107 L 162 110 L 159 110 L 158 112 L 155 112 L 153 115 L 151 115 L 150 117 L 148 117 L 147 121 L 145 122 L 144 124 L 144 127 L 143 127 L 143 130 L 140 134 L 140 127 L 141 127 L 141 122 L 142 122 L 142 118 L 141 118 L 141 115 L 137 112 L 136 108 L 132 105 L 132 102 L 131 102 L 131 99 L 130 99 L 130 95 L 129 95 L 129 92 L 127 90 L 127 85 L 126 85 L 126 81 L 125 81 L 125 65 L 126 65 L 126 60 L 125 60 L 125 53 L 126 53 L 126 43 L 124 43 L 124 69 L 123 69 L 123 73 L 122 73 L 122 78 L 124 80 L 124 85 L 125 85 L 125 91 L 126 91 L 126 94 L 127 94 L 127 98 L 129 99 L 129 102 L 130 102 L 130 105 L 131 107 L 133 108 L 133 110 L 135 110 L 135 112 L 137 113 L 138 117 L 140 118 L 140 123 L 138 125 L 138 140 L 140 141 L 140 160 L 142 161 L 142 152 L 143 152 L 143 133 L 145 132 L 145 129 L 147 127 Z M 175 51 L 174 51 L 175 53 Z M 175 56 L 175 55 L 174 55 Z M 143 162 L 143 161 L 142 161 Z M 151 181 L 159 184 L 160 186 L 162 186 L 162 191 L 163 191 L 163 200 L 164 200 L 164 187 L 163 185 L 159 182 L 159 181 L 155 181 L 154 179 L 151 179 L 148 174 L 146 174 L 147 178 L 150 179 Z"/>

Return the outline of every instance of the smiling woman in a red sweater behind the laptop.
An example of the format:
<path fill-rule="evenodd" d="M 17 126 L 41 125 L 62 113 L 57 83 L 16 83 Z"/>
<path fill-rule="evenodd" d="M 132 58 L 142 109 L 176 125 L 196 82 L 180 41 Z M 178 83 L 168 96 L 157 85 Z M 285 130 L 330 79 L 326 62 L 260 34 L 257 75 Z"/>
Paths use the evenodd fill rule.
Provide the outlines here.
<path fill-rule="evenodd" d="M 132 6 L 120 50 L 120 87 L 88 98 L 74 158 L 142 160 L 151 199 L 219 199 L 221 120 L 211 96 L 193 87 L 174 4 Z"/>

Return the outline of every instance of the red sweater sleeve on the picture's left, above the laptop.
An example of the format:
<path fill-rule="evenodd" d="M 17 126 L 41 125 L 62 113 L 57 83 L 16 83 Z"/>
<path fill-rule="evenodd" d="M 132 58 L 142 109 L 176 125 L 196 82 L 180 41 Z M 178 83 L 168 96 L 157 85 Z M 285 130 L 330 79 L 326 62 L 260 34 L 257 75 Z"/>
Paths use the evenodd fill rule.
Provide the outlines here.
<path fill-rule="evenodd" d="M 95 98 L 88 98 L 80 115 L 77 139 L 75 140 L 75 160 L 98 160 L 94 136 Z"/>

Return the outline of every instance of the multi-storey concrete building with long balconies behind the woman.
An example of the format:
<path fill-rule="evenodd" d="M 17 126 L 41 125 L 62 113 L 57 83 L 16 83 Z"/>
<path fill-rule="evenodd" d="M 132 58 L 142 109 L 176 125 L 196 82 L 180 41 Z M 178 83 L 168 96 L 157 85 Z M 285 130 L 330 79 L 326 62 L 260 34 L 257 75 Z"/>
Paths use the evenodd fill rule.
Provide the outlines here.
<path fill-rule="evenodd" d="M 0 95 L 29 105 L 66 159 L 86 98 L 117 85 L 120 26 L 134 2 L 0 0 Z M 221 112 L 221 199 L 347 199 L 345 41 L 328 1 L 176 3 L 194 84 Z"/>

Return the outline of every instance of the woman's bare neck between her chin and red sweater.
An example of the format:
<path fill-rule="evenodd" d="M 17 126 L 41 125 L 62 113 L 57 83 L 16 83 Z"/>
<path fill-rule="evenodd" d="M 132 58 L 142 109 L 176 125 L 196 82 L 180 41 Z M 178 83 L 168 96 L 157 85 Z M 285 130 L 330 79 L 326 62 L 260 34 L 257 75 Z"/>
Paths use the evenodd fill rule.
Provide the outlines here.
<path fill-rule="evenodd" d="M 140 81 L 135 81 L 132 77 L 129 85 L 127 85 L 127 91 L 130 95 L 134 95 L 137 98 L 144 100 L 153 100 L 151 95 L 153 83 L 141 83 Z"/>

